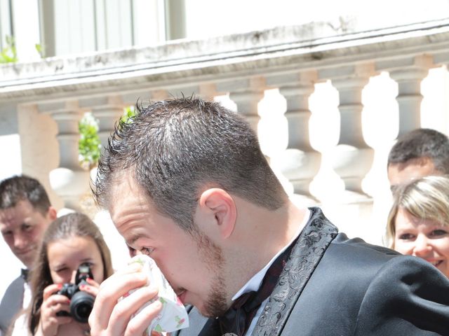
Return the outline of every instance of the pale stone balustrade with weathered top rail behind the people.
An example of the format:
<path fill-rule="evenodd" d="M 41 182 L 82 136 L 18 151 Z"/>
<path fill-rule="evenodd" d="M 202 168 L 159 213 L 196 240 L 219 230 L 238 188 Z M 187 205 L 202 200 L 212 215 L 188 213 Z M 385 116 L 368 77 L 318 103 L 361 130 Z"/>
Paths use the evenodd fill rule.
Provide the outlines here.
<path fill-rule="evenodd" d="M 77 163 L 77 123 L 83 112 L 91 111 L 100 120 L 104 145 L 123 108 L 138 99 L 145 104 L 181 93 L 207 99 L 226 95 L 236 112 L 258 130 L 265 94 L 278 89 L 286 105 L 280 116 L 286 128 L 279 131 L 279 137 L 284 134 L 287 141 L 268 155 L 270 162 L 281 179 L 288 181 L 286 188 L 293 197 L 323 207 L 328 204 L 321 197 L 327 194 L 323 188 L 332 183 L 324 183 L 316 193 L 313 183 L 328 165 L 334 179 L 341 182 L 340 194 L 345 195 L 333 199 L 335 208 L 327 206 L 330 217 L 337 224 L 344 222 L 347 213 L 338 204 L 355 204 L 356 223 L 375 209 L 375 193 L 363 186 L 377 154 L 365 139 L 364 130 L 370 126 L 363 124 L 363 90 L 372 78 L 387 72 L 398 87 L 398 120 L 386 122 L 398 123 L 397 134 L 420 127 L 422 80 L 430 69 L 449 62 L 449 20 L 337 36 L 330 33 L 321 25 L 279 27 L 203 41 L 6 64 L 0 66 L 0 120 L 14 125 L 24 139 L 24 173 L 51 186 L 55 204 L 80 209 L 79 199 L 89 189 L 88 172 Z M 326 126 L 326 130 L 329 126 L 340 130 L 337 143 L 326 153 L 312 146 L 309 134 L 314 115 L 309 101 L 323 83 L 337 90 L 335 107 L 340 120 Z M 378 131 L 382 137 L 382 130 Z M 48 132 L 53 136 L 48 137 Z M 319 135 L 327 136 L 326 131 Z M 274 140 L 261 139 L 261 143 Z M 39 167 L 32 162 L 39 162 Z M 353 205 L 348 209 L 354 214 Z M 378 232 L 383 225 L 377 223 Z M 354 234 L 363 234 L 357 230 Z"/>

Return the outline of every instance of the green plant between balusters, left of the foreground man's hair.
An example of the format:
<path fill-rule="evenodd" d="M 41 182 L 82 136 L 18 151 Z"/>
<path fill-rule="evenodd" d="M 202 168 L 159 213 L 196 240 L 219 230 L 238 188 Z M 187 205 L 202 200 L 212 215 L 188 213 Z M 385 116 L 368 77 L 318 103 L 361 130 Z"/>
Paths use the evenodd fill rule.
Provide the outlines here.
<path fill-rule="evenodd" d="M 98 120 L 92 113 L 85 113 L 79 121 L 79 162 L 82 167 L 91 169 L 100 159 L 100 138 L 98 137 Z"/>

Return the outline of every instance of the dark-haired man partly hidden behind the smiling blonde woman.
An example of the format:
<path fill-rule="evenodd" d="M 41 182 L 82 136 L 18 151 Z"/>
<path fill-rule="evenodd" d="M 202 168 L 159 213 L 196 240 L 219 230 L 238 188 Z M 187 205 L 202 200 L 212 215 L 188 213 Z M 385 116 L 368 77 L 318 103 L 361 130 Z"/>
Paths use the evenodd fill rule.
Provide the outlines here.
<path fill-rule="evenodd" d="M 449 174 L 449 139 L 436 130 L 419 128 L 398 138 L 388 155 L 391 191 L 411 180 Z"/>

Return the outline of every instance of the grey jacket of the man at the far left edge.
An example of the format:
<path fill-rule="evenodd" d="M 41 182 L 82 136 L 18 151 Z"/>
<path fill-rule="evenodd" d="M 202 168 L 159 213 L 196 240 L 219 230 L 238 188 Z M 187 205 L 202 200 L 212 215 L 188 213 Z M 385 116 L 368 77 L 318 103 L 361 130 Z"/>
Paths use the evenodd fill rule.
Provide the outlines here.
<path fill-rule="evenodd" d="M 19 276 L 6 288 L 0 303 L 0 330 L 5 335 L 12 319 L 22 309 L 25 279 Z"/>

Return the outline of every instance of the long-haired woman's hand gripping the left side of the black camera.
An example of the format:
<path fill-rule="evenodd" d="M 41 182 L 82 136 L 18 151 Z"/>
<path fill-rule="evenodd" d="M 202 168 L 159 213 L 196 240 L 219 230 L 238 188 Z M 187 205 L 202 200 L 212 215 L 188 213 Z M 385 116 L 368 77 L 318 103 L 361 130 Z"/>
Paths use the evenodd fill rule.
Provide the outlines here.
<path fill-rule="evenodd" d="M 65 295 L 59 295 L 62 284 L 53 283 L 43 290 L 41 304 L 41 321 L 36 335 L 53 336 L 58 334 L 60 324 L 72 321 L 70 316 L 57 316 L 60 311 L 70 311 L 70 300 Z"/>

